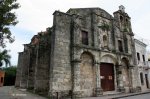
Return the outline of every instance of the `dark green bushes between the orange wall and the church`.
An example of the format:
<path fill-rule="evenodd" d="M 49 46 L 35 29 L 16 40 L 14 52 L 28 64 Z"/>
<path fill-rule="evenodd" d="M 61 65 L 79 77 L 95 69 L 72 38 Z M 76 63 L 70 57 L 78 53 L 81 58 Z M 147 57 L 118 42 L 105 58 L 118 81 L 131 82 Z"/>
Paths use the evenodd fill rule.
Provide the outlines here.
<path fill-rule="evenodd" d="M 12 86 L 15 84 L 16 69 L 16 66 L 3 68 L 3 71 L 5 71 L 4 86 Z"/>

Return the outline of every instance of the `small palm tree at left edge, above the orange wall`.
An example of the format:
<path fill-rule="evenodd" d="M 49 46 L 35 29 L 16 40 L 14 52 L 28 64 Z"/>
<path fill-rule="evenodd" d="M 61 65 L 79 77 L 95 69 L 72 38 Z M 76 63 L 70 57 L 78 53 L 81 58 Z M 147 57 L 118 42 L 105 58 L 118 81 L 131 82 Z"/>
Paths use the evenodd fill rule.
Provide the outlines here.
<path fill-rule="evenodd" d="M 5 62 L 6 67 L 10 66 L 10 55 L 8 55 L 7 50 L 0 51 L 0 67 L 3 65 L 3 62 Z"/>

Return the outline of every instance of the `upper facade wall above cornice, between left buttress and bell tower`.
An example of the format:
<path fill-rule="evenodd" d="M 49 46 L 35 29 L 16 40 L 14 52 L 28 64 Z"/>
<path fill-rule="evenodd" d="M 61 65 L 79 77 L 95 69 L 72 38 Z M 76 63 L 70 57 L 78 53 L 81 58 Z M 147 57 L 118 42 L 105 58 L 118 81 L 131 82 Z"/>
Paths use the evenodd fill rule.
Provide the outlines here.
<path fill-rule="evenodd" d="M 103 35 L 107 36 L 107 47 L 112 49 L 112 22 L 111 15 L 100 8 L 83 8 L 83 9 L 70 9 L 69 14 L 76 14 L 74 18 L 74 44 L 79 45 L 82 43 L 82 31 L 88 32 L 89 44 L 88 46 L 94 48 L 103 47 Z M 103 23 L 109 25 L 108 31 L 102 31 L 100 26 Z"/>

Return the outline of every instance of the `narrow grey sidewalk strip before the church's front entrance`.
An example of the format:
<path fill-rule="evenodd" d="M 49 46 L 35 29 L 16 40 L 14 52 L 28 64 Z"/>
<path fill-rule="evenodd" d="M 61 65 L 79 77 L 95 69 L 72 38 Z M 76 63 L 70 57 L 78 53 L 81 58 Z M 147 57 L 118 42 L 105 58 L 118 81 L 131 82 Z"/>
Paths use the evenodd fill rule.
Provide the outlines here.
<path fill-rule="evenodd" d="M 130 97 L 130 96 L 148 94 L 148 93 L 150 93 L 150 90 L 147 90 L 145 92 L 138 92 L 138 93 L 120 93 L 120 94 L 103 95 L 99 97 L 87 97 L 87 98 L 80 98 L 80 99 L 118 99 L 118 98 L 124 98 L 124 97 Z"/>

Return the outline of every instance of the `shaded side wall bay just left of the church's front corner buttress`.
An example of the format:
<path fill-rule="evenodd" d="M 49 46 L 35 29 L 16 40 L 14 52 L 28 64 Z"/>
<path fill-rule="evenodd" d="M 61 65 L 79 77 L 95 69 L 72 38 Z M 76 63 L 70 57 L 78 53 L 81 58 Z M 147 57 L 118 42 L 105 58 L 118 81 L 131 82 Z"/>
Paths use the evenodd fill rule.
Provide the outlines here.
<path fill-rule="evenodd" d="M 36 67 L 34 91 L 39 94 L 47 94 L 49 90 L 50 69 L 50 36 L 40 37 L 40 43 L 36 46 Z"/>

